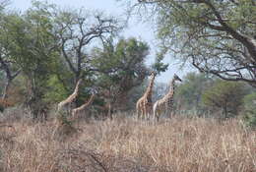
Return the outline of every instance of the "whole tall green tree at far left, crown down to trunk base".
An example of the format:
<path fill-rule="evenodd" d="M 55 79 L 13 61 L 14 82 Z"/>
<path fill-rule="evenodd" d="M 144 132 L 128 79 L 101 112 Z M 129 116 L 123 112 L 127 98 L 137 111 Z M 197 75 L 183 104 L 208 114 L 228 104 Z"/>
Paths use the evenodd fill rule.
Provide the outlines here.
<path fill-rule="evenodd" d="M 58 57 L 57 43 L 52 36 L 53 26 L 48 5 L 33 2 L 23 16 L 12 17 L 5 27 L 8 32 L 8 54 L 11 62 L 21 69 L 27 82 L 27 104 L 32 117 L 38 117 L 46 92 L 46 81 Z"/>

